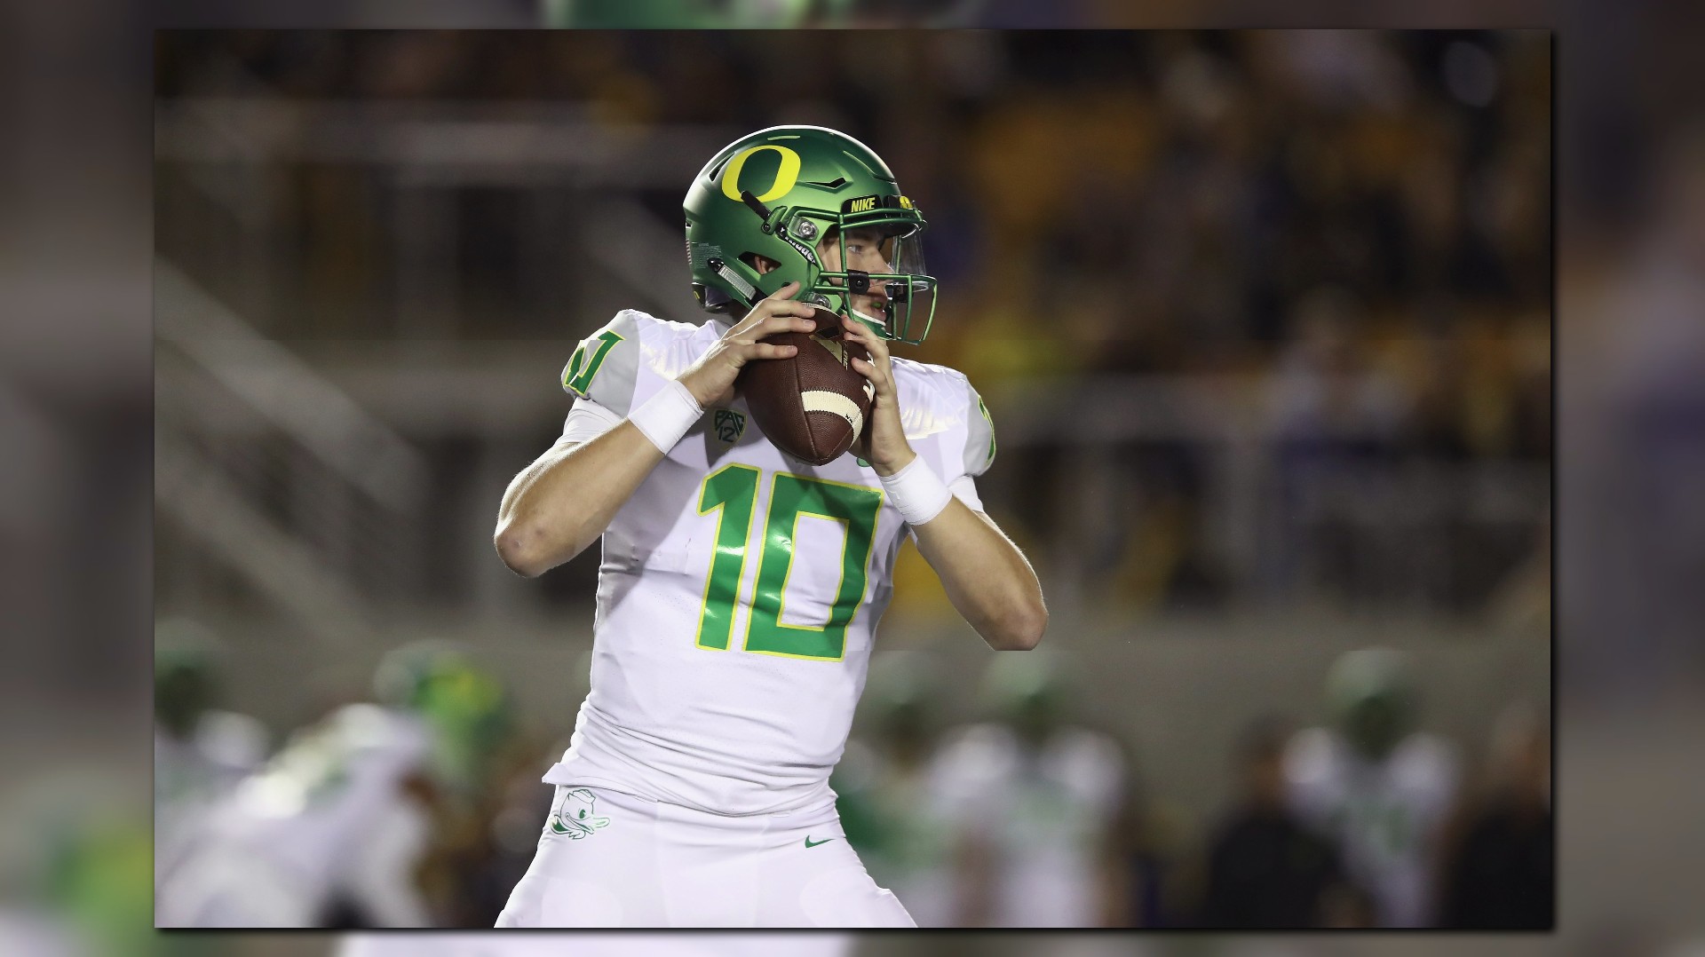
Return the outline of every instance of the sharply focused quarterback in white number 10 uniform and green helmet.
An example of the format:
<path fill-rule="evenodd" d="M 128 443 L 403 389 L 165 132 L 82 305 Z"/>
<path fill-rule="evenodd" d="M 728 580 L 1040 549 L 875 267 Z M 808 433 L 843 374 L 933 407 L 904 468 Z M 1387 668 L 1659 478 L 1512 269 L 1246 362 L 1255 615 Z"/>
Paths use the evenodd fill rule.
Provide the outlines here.
<path fill-rule="evenodd" d="M 684 203 L 702 326 L 619 312 L 563 374 L 563 437 L 522 471 L 496 549 L 540 575 L 604 539 L 592 691 L 500 926 L 912 926 L 835 815 L 841 757 L 902 536 L 996 650 L 1047 624 L 1030 563 L 982 513 L 989 415 L 951 368 L 892 358 L 934 312 L 924 217 L 858 140 L 743 136 Z M 750 423 L 750 362 L 810 333 L 861 343 L 852 450 L 808 466 Z"/>

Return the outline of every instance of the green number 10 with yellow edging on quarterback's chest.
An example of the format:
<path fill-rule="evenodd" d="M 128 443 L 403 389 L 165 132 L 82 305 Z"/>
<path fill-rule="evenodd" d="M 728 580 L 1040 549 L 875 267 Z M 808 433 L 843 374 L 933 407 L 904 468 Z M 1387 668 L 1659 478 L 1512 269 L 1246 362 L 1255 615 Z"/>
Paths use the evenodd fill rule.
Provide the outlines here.
<path fill-rule="evenodd" d="M 733 633 L 735 599 L 745 573 L 752 510 L 757 503 L 759 469 L 723 466 L 699 490 L 699 515 L 716 512 L 716 544 L 704 580 L 697 645 L 728 650 Z M 847 623 L 864 599 L 870 553 L 876 542 L 881 490 L 776 473 L 769 490 L 769 515 L 760 534 L 762 556 L 754 583 L 752 614 L 747 616 L 745 650 L 788 658 L 837 662 L 846 655 Z M 841 587 L 824 624 L 786 624 L 781 604 L 793 571 L 800 517 L 832 519 L 846 527 L 841 549 Z"/>

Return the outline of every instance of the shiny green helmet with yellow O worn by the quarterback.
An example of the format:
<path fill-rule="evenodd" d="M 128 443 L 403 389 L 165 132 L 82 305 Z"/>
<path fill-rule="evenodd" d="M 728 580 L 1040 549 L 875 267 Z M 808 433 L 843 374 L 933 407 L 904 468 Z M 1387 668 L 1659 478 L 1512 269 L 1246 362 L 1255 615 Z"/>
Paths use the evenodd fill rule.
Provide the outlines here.
<path fill-rule="evenodd" d="M 723 147 L 692 179 L 687 200 L 692 292 L 713 312 L 743 316 L 757 300 L 796 281 L 795 299 L 863 321 L 887 339 L 917 345 L 929 334 L 936 278 L 924 270 L 924 217 L 900 193 L 888 164 L 846 133 L 822 126 L 771 126 Z M 892 273 L 824 270 L 817 246 L 846 230 L 883 234 Z M 757 256 L 779 263 L 759 273 Z M 864 316 L 849 293 L 887 295 L 881 316 Z"/>

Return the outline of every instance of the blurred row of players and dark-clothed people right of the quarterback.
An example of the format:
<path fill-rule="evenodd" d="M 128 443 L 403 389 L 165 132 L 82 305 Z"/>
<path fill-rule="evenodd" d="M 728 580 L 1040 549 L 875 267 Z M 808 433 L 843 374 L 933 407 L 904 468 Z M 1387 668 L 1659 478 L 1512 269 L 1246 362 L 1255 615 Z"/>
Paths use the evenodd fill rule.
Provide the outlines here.
<path fill-rule="evenodd" d="M 922 652 L 873 660 L 835 786 L 919 926 L 1550 926 L 1543 715 L 1514 706 L 1466 766 L 1424 730 L 1402 653 L 1349 652 L 1323 682 L 1332 722 L 1275 715 L 1228 742 L 1233 802 L 1192 832 L 1074 667 L 997 655 L 980 720 L 946 727 Z"/>

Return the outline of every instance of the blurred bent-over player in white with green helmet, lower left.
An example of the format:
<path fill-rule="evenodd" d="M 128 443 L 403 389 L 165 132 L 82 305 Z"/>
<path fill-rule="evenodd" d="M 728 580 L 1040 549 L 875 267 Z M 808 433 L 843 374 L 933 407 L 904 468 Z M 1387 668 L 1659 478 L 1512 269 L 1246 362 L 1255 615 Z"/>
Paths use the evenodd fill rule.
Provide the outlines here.
<path fill-rule="evenodd" d="M 419 872 L 484 774 L 503 691 L 438 645 L 387 655 L 382 705 L 297 732 L 208 810 L 157 897 L 160 926 L 435 926 Z"/>

